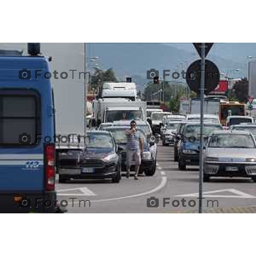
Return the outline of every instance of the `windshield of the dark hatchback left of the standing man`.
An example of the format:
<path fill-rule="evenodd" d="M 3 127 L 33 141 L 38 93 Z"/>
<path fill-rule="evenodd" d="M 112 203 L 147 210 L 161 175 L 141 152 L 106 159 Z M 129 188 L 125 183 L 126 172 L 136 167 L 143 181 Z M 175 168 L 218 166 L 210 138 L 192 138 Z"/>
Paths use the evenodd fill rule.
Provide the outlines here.
<path fill-rule="evenodd" d="M 110 134 L 88 133 L 90 138 L 87 143 L 87 148 L 113 148 L 113 140 Z"/>

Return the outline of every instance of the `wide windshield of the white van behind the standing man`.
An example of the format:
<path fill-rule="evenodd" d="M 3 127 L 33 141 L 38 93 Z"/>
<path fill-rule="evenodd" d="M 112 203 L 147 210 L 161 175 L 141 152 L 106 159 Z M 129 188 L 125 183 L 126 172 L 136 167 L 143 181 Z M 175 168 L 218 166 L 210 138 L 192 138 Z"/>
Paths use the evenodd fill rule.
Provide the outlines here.
<path fill-rule="evenodd" d="M 141 110 L 107 110 L 105 122 L 114 122 L 119 120 L 143 120 Z"/>

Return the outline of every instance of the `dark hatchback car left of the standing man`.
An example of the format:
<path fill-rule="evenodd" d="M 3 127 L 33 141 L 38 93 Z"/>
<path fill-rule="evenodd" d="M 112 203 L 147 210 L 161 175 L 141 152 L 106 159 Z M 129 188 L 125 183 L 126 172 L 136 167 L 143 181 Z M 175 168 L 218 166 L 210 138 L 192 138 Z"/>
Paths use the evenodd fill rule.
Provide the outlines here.
<path fill-rule="evenodd" d="M 89 143 L 77 155 L 76 165 L 62 166 L 59 182 L 72 179 L 105 179 L 113 183 L 121 179 L 122 156 L 112 134 L 108 131 L 90 131 Z"/>

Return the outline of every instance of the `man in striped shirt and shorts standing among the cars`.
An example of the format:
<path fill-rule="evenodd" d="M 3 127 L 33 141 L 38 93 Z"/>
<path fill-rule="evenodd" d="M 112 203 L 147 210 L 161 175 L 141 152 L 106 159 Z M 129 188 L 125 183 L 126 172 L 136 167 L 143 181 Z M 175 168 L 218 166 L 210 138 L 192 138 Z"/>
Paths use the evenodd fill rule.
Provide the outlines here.
<path fill-rule="evenodd" d="M 130 123 L 130 130 L 126 131 L 127 136 L 127 148 L 126 148 L 126 160 L 127 160 L 127 174 L 126 177 L 130 177 L 131 162 L 135 161 L 135 175 L 134 180 L 138 179 L 138 173 L 141 163 L 141 154 L 143 153 L 143 142 L 140 135 L 137 133 L 137 124 L 135 120 Z"/>

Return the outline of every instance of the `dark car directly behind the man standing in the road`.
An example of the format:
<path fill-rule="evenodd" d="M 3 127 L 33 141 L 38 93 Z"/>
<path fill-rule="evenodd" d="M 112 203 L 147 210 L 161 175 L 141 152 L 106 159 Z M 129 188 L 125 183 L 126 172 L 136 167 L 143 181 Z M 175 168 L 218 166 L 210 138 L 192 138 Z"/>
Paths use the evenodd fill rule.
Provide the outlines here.
<path fill-rule="evenodd" d="M 108 131 L 111 131 L 113 134 L 113 137 L 115 138 L 116 143 L 119 145 L 119 148 L 122 148 L 122 171 L 126 172 L 126 143 L 127 143 L 127 137 L 125 135 L 125 131 L 128 129 L 127 126 L 111 126 L 106 127 Z M 150 145 L 147 142 L 146 136 L 143 132 L 143 130 L 137 129 L 137 132 L 140 134 L 140 137 L 143 140 L 143 153 L 141 157 L 141 165 L 139 174 L 145 173 L 146 176 L 153 176 L 156 172 L 156 154 L 153 154 L 152 151 L 150 151 Z M 135 162 L 131 163 L 131 172 L 135 171 Z"/>

